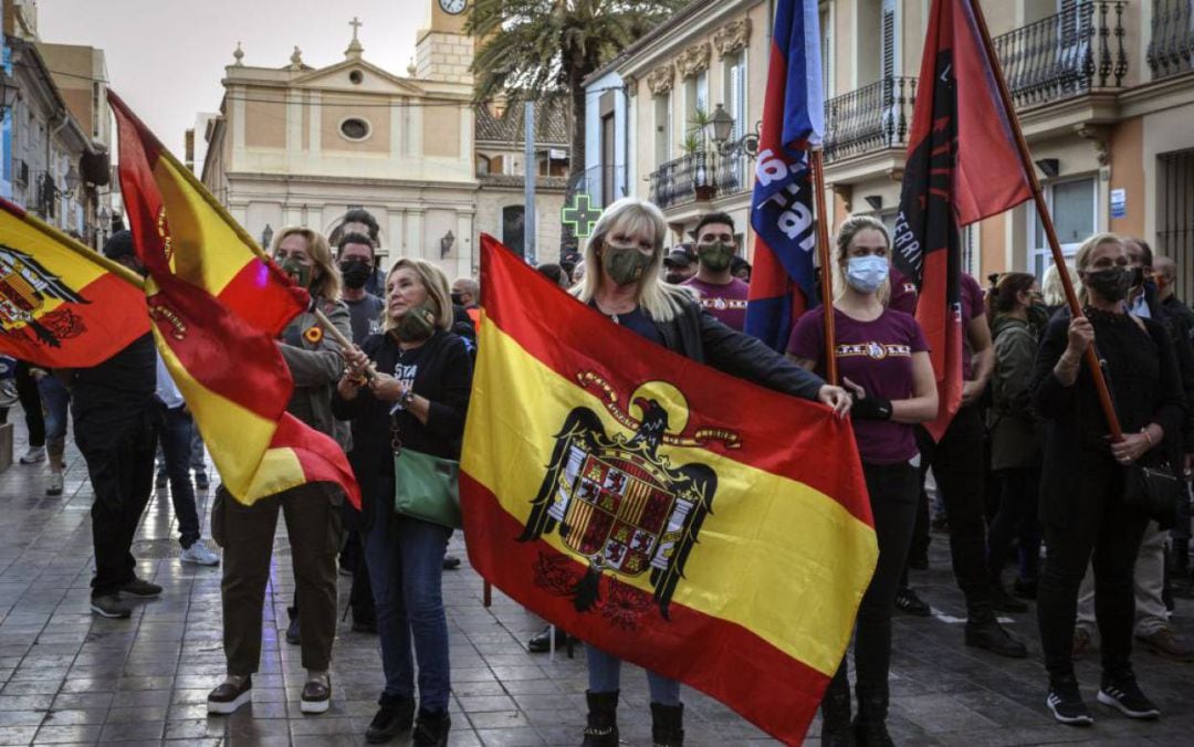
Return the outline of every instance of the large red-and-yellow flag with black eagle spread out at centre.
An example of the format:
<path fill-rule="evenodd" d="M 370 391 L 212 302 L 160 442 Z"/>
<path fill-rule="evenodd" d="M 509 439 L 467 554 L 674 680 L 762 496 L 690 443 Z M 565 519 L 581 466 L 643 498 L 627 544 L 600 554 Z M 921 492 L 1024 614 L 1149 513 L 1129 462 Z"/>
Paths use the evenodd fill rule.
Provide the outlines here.
<path fill-rule="evenodd" d="M 799 743 L 878 557 L 849 424 L 610 325 L 491 236 L 481 284 L 473 566 Z"/>

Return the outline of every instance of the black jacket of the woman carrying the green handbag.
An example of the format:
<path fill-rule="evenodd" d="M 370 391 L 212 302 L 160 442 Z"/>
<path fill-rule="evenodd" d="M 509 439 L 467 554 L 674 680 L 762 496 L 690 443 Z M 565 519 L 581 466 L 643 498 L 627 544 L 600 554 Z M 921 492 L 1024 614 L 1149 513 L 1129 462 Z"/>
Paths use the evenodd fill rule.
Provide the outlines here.
<path fill-rule="evenodd" d="M 394 374 L 398 364 L 398 344 L 389 334 L 369 335 L 361 345 L 378 372 Z M 414 377 L 414 394 L 431 402 L 427 424 L 423 425 L 406 410 L 394 418 L 404 449 L 458 459 L 464 436 L 464 415 L 473 387 L 473 359 L 464 342 L 449 332 L 436 332 L 419 352 L 419 370 Z M 368 388 L 362 388 L 353 400 L 345 400 L 339 390 L 332 396 L 332 413 L 341 420 L 352 420 L 352 452 L 349 461 L 361 486 L 364 525 L 371 526 L 378 516 L 389 517 L 394 504 L 394 450 L 389 402 L 377 400 Z M 378 514 L 378 506 L 390 510 Z"/>

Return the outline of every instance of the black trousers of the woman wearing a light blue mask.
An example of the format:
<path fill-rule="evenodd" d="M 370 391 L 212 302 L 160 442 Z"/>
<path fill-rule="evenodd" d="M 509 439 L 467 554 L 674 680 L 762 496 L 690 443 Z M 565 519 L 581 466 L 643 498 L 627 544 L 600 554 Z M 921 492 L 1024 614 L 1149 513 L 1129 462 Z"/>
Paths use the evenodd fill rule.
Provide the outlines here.
<path fill-rule="evenodd" d="M 862 471 L 870 493 L 870 512 L 875 518 L 879 562 L 875 575 L 870 578 L 870 586 L 862 595 L 862 604 L 858 605 L 854 667 L 860 693 L 885 697 L 892 659 L 892 611 L 912 541 L 921 486 L 917 470 L 910 464 L 880 465 L 863 462 Z M 831 690 L 849 691 L 845 669 L 843 660 L 830 683 Z"/>

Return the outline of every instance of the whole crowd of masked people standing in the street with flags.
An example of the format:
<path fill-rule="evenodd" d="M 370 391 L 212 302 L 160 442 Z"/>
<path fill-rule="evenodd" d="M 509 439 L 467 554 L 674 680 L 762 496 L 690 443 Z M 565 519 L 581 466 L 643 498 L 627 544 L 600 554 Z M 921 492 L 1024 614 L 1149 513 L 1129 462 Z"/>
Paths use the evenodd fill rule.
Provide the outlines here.
<path fill-rule="evenodd" d="M 667 234 L 657 206 L 624 198 L 603 212 L 583 257 L 538 271 L 651 342 L 853 420 L 879 561 L 857 615 L 854 693 L 843 661 L 821 703 L 823 743 L 892 743 L 892 616 L 933 612 L 909 581 L 909 568 L 927 567 L 933 525 L 948 529 L 966 605 L 966 646 L 1027 656 L 996 613 L 1023 613 L 1035 600 L 1047 674 L 1042 692 L 1058 721 L 1094 721 L 1073 660 L 1094 646 L 1096 630 L 1097 700 L 1132 718 L 1159 716 L 1137 683 L 1133 638 L 1156 654 L 1194 661 L 1168 622 L 1174 594 L 1190 586 L 1194 463 L 1194 311 L 1174 295 L 1171 260 L 1153 258 L 1139 239 L 1098 234 L 1082 245 L 1072 268 L 1051 267 L 1041 283 L 1008 272 L 992 276 L 984 291 L 964 276 L 961 406 L 934 438 L 925 426 L 937 419 L 940 401 L 929 344 L 915 317 L 916 286 L 892 266 L 882 222 L 851 216 L 837 227 L 831 313 L 839 385 L 826 381 L 823 322 L 830 310 L 801 316 L 786 354 L 744 332 L 751 267 L 728 215 L 703 216 L 690 243 L 665 248 Z M 473 278 L 449 282 L 420 259 L 400 258 L 383 270 L 378 248 L 377 222 L 359 209 L 330 237 L 285 228 L 270 247 L 353 341 L 345 350 L 332 334 L 313 334 L 321 322 L 307 313 L 277 345 L 295 384 L 289 412 L 347 452 L 363 501 L 356 511 L 327 483 L 252 505 L 224 486 L 216 489 L 210 526 L 223 549 L 227 674 L 209 694 L 208 710 L 232 714 L 252 698 L 281 513 L 296 581 L 287 640 L 301 647 L 307 672 L 301 710 L 324 712 L 333 698 L 337 574 L 347 570 L 352 629 L 378 635 L 384 674 L 367 740 L 413 731 L 414 745 L 442 746 L 451 726 L 451 681 L 441 587 L 444 569 L 460 560 L 447 555 L 451 527 L 395 512 L 395 455 L 408 449 L 460 458 L 484 289 Z M 104 252 L 144 272 L 128 231 Z M 1079 289 L 1081 315 L 1065 302 L 1061 272 Z M 1089 366 L 1091 348 L 1107 382 L 1106 402 Z M 21 364 L 17 388 L 30 432 L 20 461 L 48 458 L 50 495 L 63 489 L 72 410 L 96 496 L 97 615 L 129 617 L 129 598 L 162 592 L 136 576 L 130 551 L 159 446 L 158 486 L 171 488 L 180 560 L 221 562 L 203 544 L 196 511 L 195 489 L 208 488 L 204 446 L 150 335 L 93 369 L 49 372 Z M 1104 405 L 1122 430 L 1118 439 L 1109 437 Z M 1180 483 L 1176 494 L 1162 489 L 1167 476 Z M 1169 505 L 1158 504 L 1159 495 L 1169 495 Z M 571 638 L 548 628 L 528 648 L 553 644 Z M 621 661 L 591 646 L 586 658 L 583 743 L 614 746 Z M 647 681 L 654 743 L 682 745 L 679 683 L 653 672 Z"/>

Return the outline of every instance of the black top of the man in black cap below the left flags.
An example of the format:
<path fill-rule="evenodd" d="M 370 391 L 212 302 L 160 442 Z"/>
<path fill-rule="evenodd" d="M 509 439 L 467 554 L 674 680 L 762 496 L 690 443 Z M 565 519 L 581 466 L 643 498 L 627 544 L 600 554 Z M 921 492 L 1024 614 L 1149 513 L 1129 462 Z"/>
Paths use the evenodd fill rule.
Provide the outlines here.
<path fill-rule="evenodd" d="M 158 390 L 158 358 L 153 333 L 90 369 L 75 369 L 70 405 L 75 425 L 118 422 L 139 415 Z"/>

